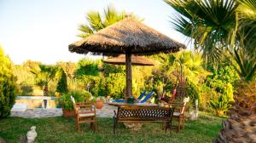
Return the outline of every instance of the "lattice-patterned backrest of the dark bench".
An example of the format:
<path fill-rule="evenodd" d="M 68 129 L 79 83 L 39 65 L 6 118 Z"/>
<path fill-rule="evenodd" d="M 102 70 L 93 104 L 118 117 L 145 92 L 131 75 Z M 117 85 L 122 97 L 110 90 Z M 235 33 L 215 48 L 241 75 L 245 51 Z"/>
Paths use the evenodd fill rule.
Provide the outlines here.
<path fill-rule="evenodd" d="M 172 108 L 158 106 L 119 106 L 117 118 L 119 121 L 169 121 L 173 111 Z"/>

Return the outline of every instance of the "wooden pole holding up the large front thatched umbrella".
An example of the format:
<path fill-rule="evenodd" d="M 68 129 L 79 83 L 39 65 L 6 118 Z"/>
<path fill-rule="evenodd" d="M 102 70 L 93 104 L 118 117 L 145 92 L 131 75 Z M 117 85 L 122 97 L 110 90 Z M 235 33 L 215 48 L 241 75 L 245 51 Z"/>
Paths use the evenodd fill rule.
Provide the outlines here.
<path fill-rule="evenodd" d="M 125 54 L 125 66 L 126 66 L 126 96 L 125 98 L 131 97 L 132 94 L 132 78 L 131 78 L 131 54 Z"/>

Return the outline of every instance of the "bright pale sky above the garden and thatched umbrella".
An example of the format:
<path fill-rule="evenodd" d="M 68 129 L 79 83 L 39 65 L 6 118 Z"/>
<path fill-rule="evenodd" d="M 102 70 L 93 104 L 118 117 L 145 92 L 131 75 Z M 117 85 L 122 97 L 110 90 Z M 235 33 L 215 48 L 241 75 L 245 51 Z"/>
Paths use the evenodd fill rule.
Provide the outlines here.
<path fill-rule="evenodd" d="M 70 53 L 68 45 L 81 39 L 78 26 L 87 24 L 86 14 L 91 10 L 103 13 L 109 4 L 186 44 L 186 38 L 172 28 L 171 17 L 177 13 L 162 0 L 0 0 L 0 45 L 15 64 L 100 58 Z"/>

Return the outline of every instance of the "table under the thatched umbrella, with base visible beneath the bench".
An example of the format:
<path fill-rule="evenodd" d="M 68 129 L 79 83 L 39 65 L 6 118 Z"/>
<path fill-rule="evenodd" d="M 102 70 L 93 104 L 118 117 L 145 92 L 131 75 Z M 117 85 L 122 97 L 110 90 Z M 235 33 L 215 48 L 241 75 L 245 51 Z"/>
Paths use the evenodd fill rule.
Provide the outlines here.
<path fill-rule="evenodd" d="M 109 106 L 158 106 L 154 103 L 126 103 L 126 102 L 108 102 Z M 139 130 L 142 128 L 143 123 L 124 123 L 127 129 Z"/>

